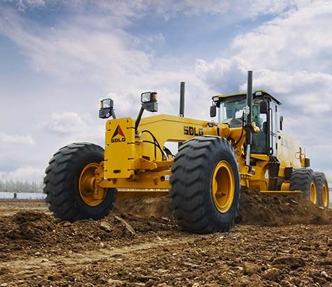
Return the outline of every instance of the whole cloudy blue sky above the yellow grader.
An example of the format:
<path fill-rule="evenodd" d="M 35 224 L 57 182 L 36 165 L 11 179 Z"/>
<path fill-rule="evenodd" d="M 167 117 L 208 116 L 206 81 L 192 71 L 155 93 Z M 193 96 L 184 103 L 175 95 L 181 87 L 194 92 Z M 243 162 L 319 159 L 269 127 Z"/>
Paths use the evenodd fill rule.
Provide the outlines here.
<path fill-rule="evenodd" d="M 0 176 L 40 180 L 61 146 L 103 145 L 107 94 L 118 116 L 136 116 L 148 90 L 177 114 L 185 81 L 186 115 L 204 119 L 252 69 L 332 178 L 331 19 L 327 0 L 0 0 Z"/>

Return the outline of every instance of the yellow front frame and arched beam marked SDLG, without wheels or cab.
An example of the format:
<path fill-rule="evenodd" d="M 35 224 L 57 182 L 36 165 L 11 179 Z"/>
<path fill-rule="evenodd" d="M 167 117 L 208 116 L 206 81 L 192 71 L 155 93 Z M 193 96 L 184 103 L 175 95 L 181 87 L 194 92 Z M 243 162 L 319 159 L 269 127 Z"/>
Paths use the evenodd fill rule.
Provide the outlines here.
<path fill-rule="evenodd" d="M 167 141 L 181 143 L 202 135 L 224 137 L 233 146 L 236 143 L 234 153 L 239 162 L 241 187 L 251 187 L 251 189 L 269 193 L 266 190 L 269 187 L 269 179 L 264 178 L 269 156 L 253 155 L 259 160 L 259 164 L 255 167 L 255 175 L 249 172 L 243 149 L 246 132 L 243 131 L 241 137 L 241 127 L 229 128 L 227 124 L 165 114 L 142 118 L 137 134 L 133 118 L 116 118 L 107 121 L 105 160 L 96 171 L 96 182 L 99 187 L 120 189 L 119 193 L 123 196 L 133 193 L 133 191 L 121 191 L 121 189 L 141 189 L 141 194 L 144 192 L 146 195 L 159 195 L 165 194 L 171 188 L 169 178 L 173 157 L 169 155 L 167 158 L 163 157 L 158 148 L 155 152 L 153 138 L 144 130 L 151 132 L 161 147 Z M 280 168 L 280 176 L 283 176 L 283 171 L 284 168 Z M 165 192 L 154 192 L 155 189 L 165 189 Z M 282 190 L 277 192 L 289 193 L 289 184 L 285 183 Z M 276 193 L 276 191 L 271 193 Z M 99 193 L 96 192 L 95 195 L 98 198 Z M 118 195 L 122 197 L 120 194 Z"/>

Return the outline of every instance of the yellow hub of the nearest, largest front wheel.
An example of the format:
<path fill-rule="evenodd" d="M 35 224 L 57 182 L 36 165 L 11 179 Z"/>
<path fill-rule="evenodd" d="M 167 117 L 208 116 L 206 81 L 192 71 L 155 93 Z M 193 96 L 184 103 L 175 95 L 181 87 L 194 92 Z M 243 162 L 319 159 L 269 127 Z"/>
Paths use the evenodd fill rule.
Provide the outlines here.
<path fill-rule="evenodd" d="M 228 162 L 218 162 L 212 176 L 212 199 L 219 212 L 231 208 L 234 199 L 235 180 L 232 167 Z"/>

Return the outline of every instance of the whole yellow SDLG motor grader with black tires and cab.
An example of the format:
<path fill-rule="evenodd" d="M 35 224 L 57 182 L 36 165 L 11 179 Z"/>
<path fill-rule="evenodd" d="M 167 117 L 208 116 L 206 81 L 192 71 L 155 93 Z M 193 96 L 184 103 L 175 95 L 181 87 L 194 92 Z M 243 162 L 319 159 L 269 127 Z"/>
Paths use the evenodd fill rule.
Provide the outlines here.
<path fill-rule="evenodd" d="M 329 205 L 324 173 L 309 168 L 305 149 L 288 137 L 278 114 L 280 102 L 266 91 L 215 95 L 211 118 L 184 114 L 142 118 L 158 111 L 157 93 L 141 95 L 136 119 L 116 118 L 112 99 L 101 101 L 106 122 L 105 151 L 93 143 L 58 150 L 45 173 L 46 201 L 55 217 L 100 219 L 115 199 L 169 194 L 176 223 L 194 233 L 228 231 L 239 208 L 241 189 L 303 196 Z M 218 113 L 217 113 L 218 111 Z M 165 146 L 179 143 L 176 155 Z"/>

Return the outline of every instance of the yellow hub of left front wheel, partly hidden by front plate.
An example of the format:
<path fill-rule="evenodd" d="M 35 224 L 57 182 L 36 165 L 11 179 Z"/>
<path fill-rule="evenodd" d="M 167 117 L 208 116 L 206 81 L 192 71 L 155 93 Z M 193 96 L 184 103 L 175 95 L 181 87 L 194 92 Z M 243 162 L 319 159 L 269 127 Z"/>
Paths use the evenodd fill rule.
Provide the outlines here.
<path fill-rule="evenodd" d="M 90 206 L 97 206 L 103 202 L 106 196 L 106 189 L 97 184 L 98 167 L 100 164 L 93 162 L 84 167 L 78 181 L 78 189 L 82 201 Z"/>

